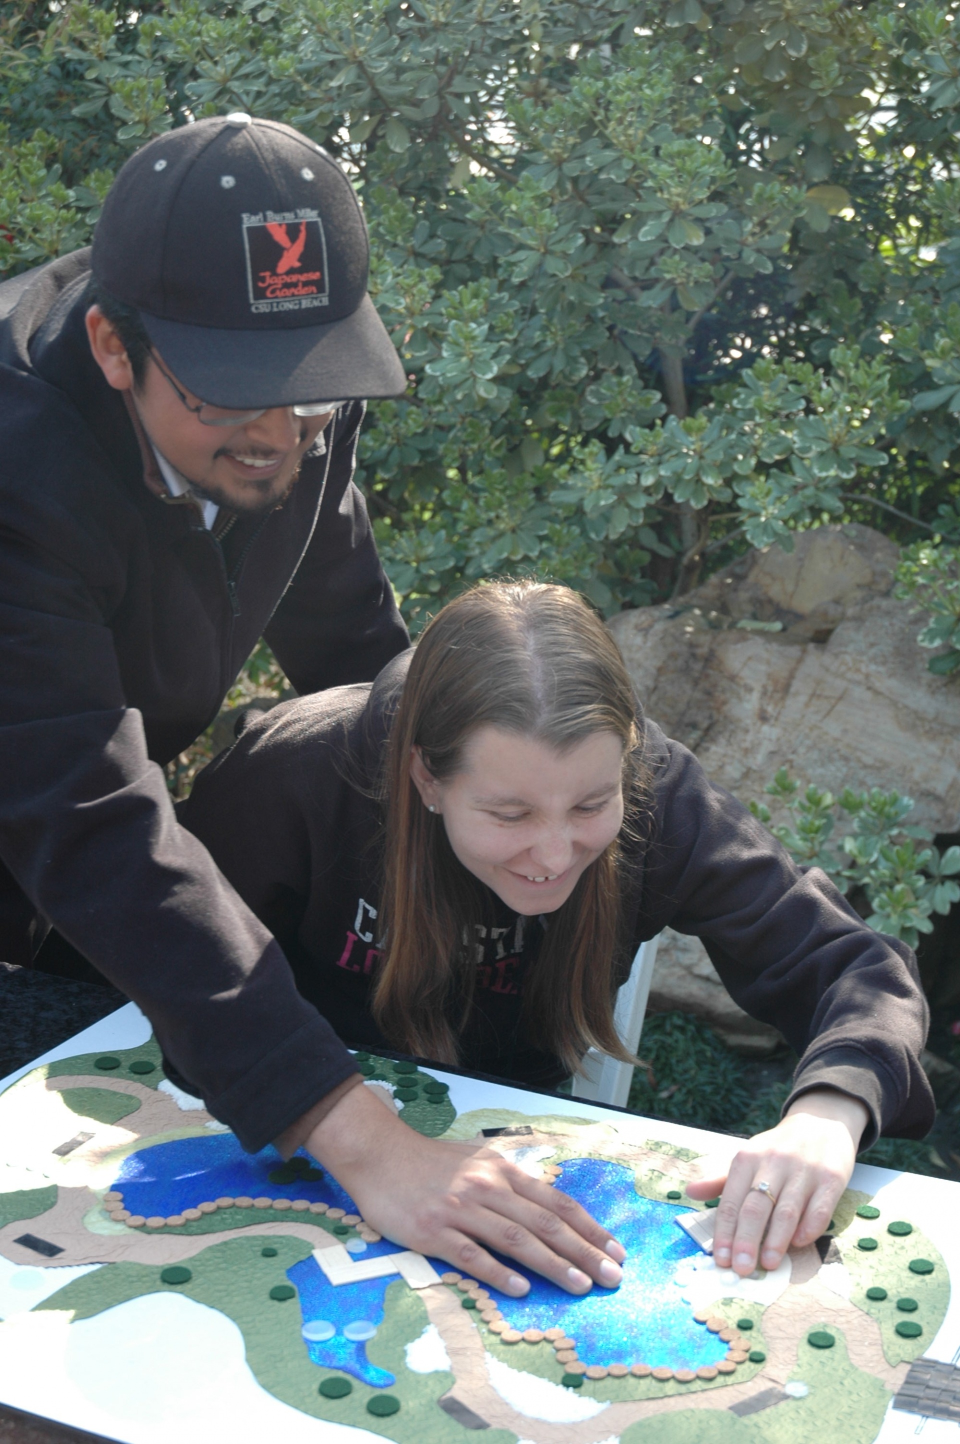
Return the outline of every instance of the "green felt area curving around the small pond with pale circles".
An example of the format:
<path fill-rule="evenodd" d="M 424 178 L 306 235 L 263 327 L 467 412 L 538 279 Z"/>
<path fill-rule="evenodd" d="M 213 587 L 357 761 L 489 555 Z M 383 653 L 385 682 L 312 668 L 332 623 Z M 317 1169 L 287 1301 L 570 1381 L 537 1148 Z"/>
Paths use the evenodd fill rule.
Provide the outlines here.
<path fill-rule="evenodd" d="M 179 1285 L 163 1284 L 159 1268 L 111 1264 L 68 1284 L 45 1300 L 39 1310 L 69 1310 L 74 1320 L 79 1320 L 144 1294 L 185 1294 L 232 1318 L 244 1336 L 247 1363 L 254 1376 L 283 1404 L 318 1419 L 383 1434 L 397 1444 L 466 1444 L 469 1431 L 437 1408 L 437 1399 L 455 1383 L 453 1375 L 413 1373 L 406 1366 L 404 1346 L 419 1339 L 427 1326 L 427 1313 L 417 1292 L 401 1279 L 388 1285 L 384 1323 L 367 1344 L 371 1363 L 388 1369 L 397 1382 L 383 1391 L 351 1379 L 352 1389 L 348 1395 L 339 1399 L 323 1398 L 319 1392 L 320 1382 L 345 1376 L 310 1362 L 300 1336 L 300 1307 L 296 1298 L 270 1298 L 270 1289 L 289 1284 L 286 1269 L 306 1258 L 310 1245 L 289 1235 L 276 1235 L 270 1239 L 270 1246 L 276 1248 L 276 1255 L 264 1258 L 261 1236 L 214 1243 L 191 1258 L 191 1278 Z M 374 1424 L 367 1404 L 384 1392 L 400 1401 L 400 1409 L 377 1418 Z M 515 1444 L 515 1435 L 504 1430 L 488 1430 L 484 1432 L 484 1444 Z"/>

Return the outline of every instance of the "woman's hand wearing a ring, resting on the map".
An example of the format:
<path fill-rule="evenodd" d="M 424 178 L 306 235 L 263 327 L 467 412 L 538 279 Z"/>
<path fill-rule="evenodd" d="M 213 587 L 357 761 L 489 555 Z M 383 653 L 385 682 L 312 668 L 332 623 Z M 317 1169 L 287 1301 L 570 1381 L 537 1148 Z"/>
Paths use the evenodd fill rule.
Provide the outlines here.
<path fill-rule="evenodd" d="M 739 1149 L 729 1168 L 710 1168 L 687 1186 L 691 1199 L 723 1197 L 717 1206 L 713 1258 L 746 1276 L 758 1264 L 772 1269 L 788 1248 L 813 1243 L 827 1229 L 850 1181 L 868 1112 L 859 1099 L 814 1089 L 767 1134 Z M 775 1203 L 758 1184 L 769 1184 Z M 762 1249 L 761 1249 L 762 1243 Z"/>

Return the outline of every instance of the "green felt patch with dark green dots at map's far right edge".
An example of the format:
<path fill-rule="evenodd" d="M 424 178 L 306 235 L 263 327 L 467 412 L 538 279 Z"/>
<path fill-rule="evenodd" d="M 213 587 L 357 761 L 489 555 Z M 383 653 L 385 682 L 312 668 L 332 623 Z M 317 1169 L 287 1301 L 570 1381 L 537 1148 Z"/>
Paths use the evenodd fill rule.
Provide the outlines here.
<path fill-rule="evenodd" d="M 881 1199 L 878 1219 L 855 1216 L 837 1239 L 840 1256 L 853 1279 L 850 1302 L 881 1326 L 883 1354 L 891 1365 L 909 1363 L 927 1353 L 950 1302 L 950 1275 L 935 1245 L 917 1227 L 905 1236 L 888 1233 L 888 1225 L 899 1220 L 899 1213 L 885 1209 Z M 863 1252 L 858 1248 L 859 1238 L 876 1239 L 876 1249 Z M 914 1274 L 909 1262 L 917 1258 L 930 1259 L 933 1272 Z M 883 1288 L 886 1298 L 869 1298 L 870 1288 Z M 909 1313 L 899 1310 L 899 1298 L 915 1300 L 917 1308 Z M 904 1339 L 896 1333 L 896 1324 L 908 1317 L 922 1328 L 917 1339 Z"/>

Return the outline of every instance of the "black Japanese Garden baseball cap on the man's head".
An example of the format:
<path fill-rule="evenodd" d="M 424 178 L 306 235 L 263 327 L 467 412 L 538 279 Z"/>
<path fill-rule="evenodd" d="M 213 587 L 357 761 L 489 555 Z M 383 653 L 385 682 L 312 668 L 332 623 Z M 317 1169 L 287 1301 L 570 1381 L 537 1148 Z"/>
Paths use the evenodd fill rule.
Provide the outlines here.
<path fill-rule="evenodd" d="M 95 280 L 139 308 L 183 386 L 237 409 L 406 388 L 368 266 L 364 217 L 336 162 L 290 126 L 240 114 L 137 150 L 92 250 Z"/>

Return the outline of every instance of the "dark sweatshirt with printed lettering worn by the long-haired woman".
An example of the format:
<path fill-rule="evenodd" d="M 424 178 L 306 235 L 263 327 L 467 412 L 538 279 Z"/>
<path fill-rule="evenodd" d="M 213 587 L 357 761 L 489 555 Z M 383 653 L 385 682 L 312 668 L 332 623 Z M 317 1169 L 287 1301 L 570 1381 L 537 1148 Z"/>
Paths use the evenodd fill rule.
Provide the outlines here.
<path fill-rule="evenodd" d="M 372 687 L 247 713 L 238 741 L 201 773 L 179 810 L 283 946 L 300 995 L 355 1047 L 385 1044 L 370 1008 L 380 943 L 377 777 L 410 656 Z M 638 721 L 651 781 L 638 836 L 624 845 L 625 967 L 664 927 L 700 937 L 730 996 L 800 1054 L 784 1106 L 830 1086 L 865 1103 L 863 1147 L 881 1132 L 922 1136 L 934 1105 L 920 1066 L 928 1018 L 912 952 L 866 927 L 827 877 L 797 868 L 686 747 Z M 524 976 L 544 924 L 492 897 L 478 920 L 465 1069 L 534 1087 L 564 1076 L 523 1034 Z M 329 1089 L 342 1076 L 331 1073 Z"/>

